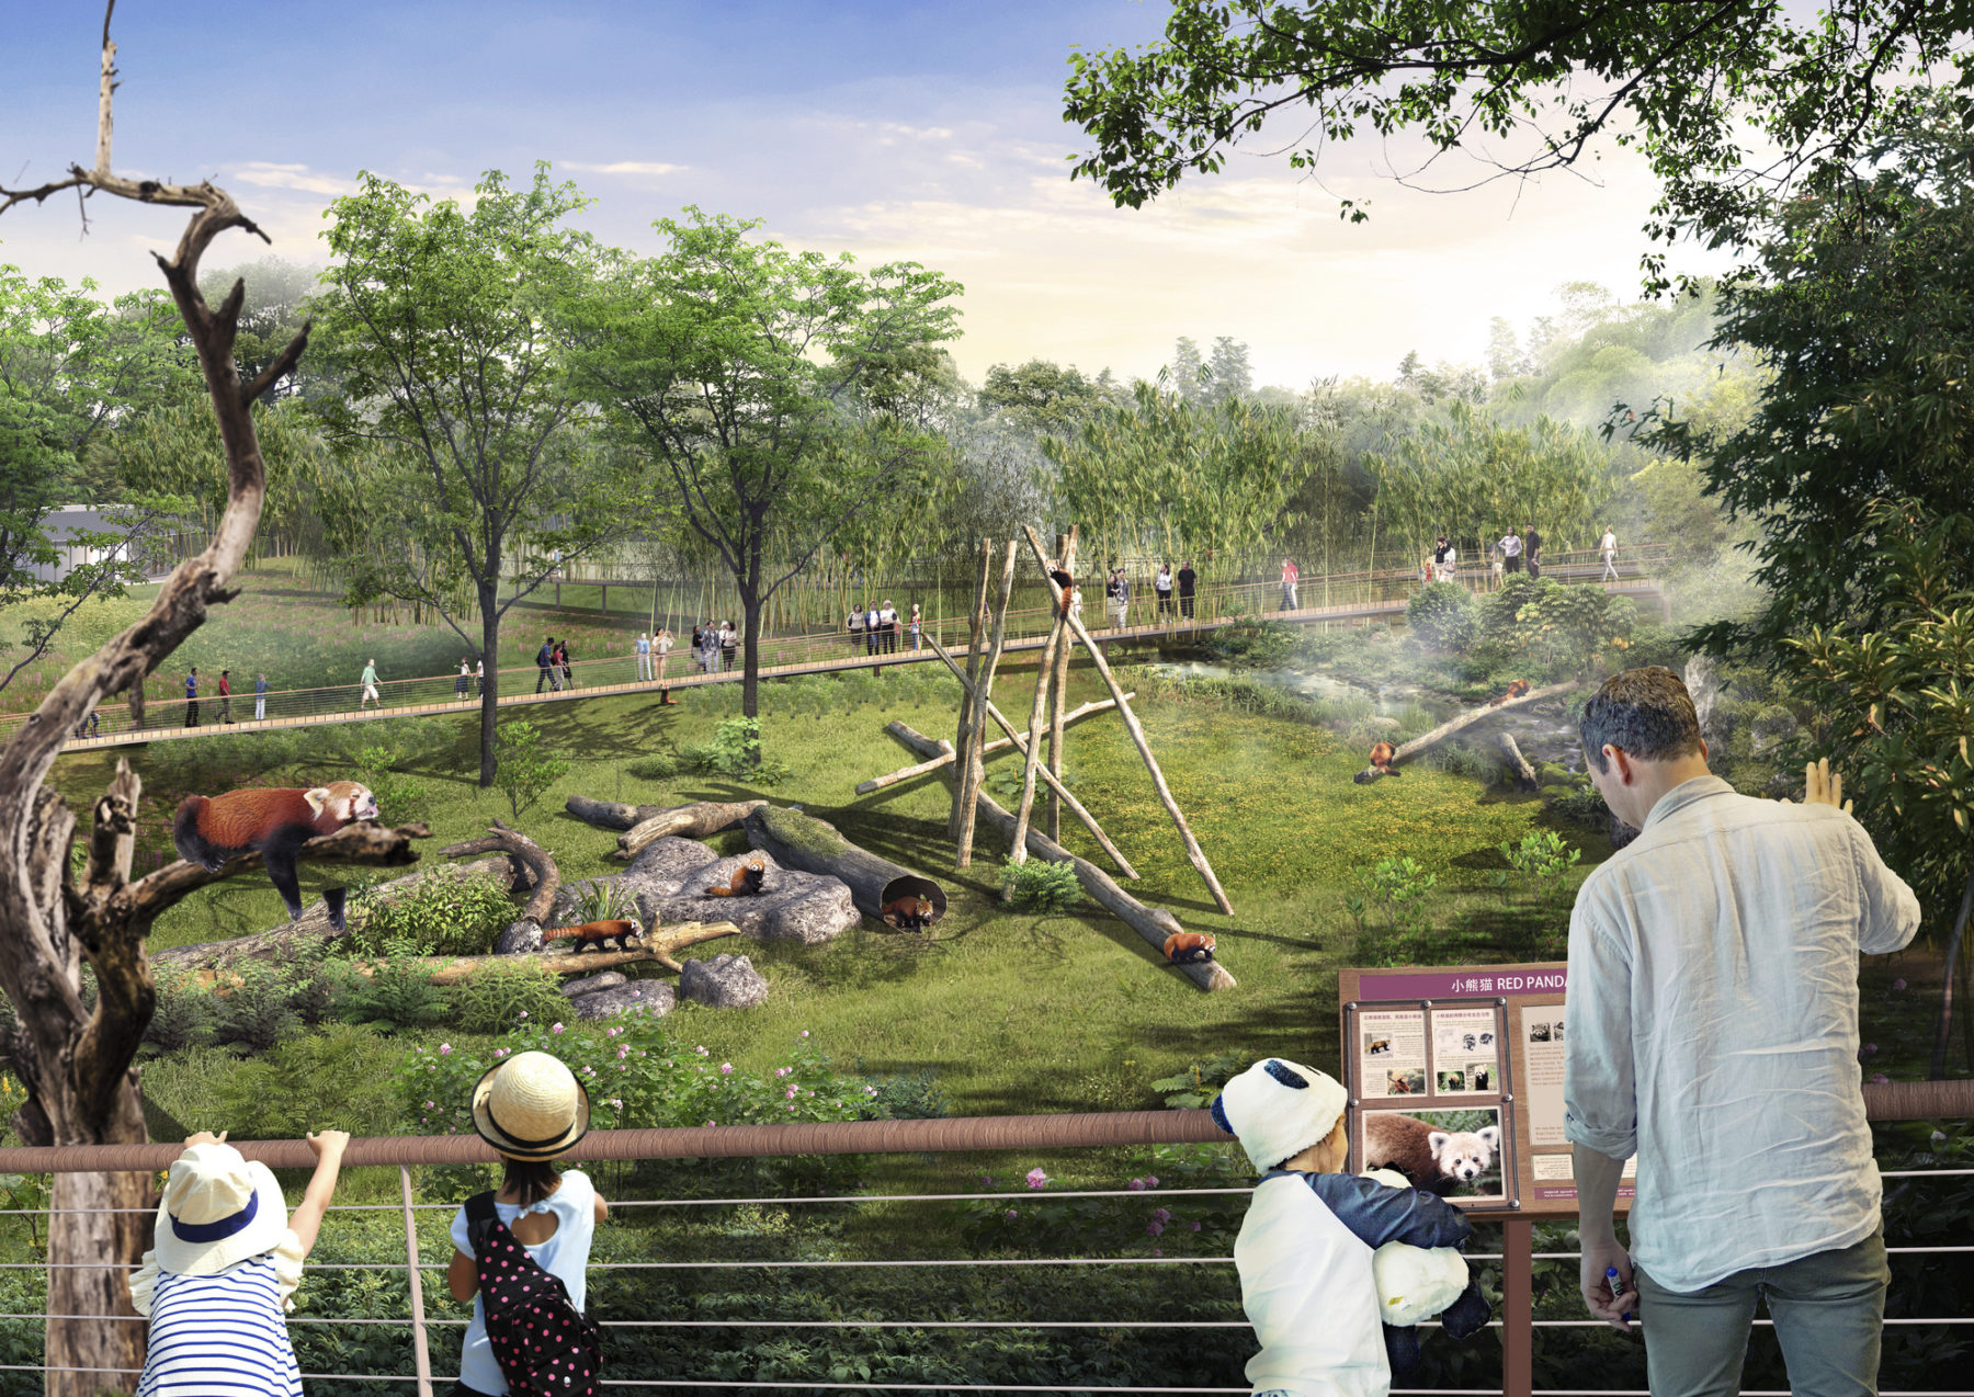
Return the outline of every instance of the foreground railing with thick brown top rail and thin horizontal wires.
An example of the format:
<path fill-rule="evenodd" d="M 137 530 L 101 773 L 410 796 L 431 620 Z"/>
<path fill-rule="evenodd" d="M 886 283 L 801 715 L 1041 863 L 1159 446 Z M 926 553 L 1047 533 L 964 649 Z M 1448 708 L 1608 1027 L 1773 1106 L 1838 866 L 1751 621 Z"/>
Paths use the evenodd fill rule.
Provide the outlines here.
<path fill-rule="evenodd" d="M 1974 1081 L 1927 1081 L 1927 1083 L 1881 1083 L 1865 1085 L 1865 1107 L 1873 1121 L 1944 1121 L 1944 1119 L 1968 1119 L 1974 1117 Z M 679 1131 L 596 1131 L 588 1135 L 569 1156 L 569 1162 L 600 1162 L 600 1160 L 677 1160 L 677 1158 L 719 1158 L 719 1156 L 794 1156 L 794 1154 L 918 1154 L 928 1150 L 967 1150 L 967 1152 L 987 1152 L 987 1150 L 1074 1150 L 1074 1148 L 1115 1148 L 1115 1146 L 1135 1146 L 1135 1144 L 1198 1144 L 1198 1142 L 1220 1142 L 1226 1144 L 1218 1127 L 1206 1111 L 1121 1111 L 1105 1115 L 1038 1115 L 1038 1117 L 973 1117 L 973 1119 L 944 1119 L 944 1121 L 857 1121 L 857 1123 L 827 1123 L 827 1125 L 740 1125 L 740 1127 L 699 1127 L 699 1129 L 679 1129 Z M 304 1168 L 312 1164 L 312 1154 L 302 1140 L 263 1140 L 263 1142 L 237 1142 L 241 1152 L 249 1158 L 263 1160 L 274 1168 Z M 0 1148 L 0 1172 L 10 1174 L 45 1174 L 45 1172 L 75 1172 L 75 1170 L 162 1170 L 174 1158 L 178 1158 L 178 1144 L 109 1144 L 109 1146 L 55 1146 L 55 1148 Z M 397 1261 L 363 1261 L 363 1263 L 326 1263 L 310 1261 L 308 1271 L 399 1271 L 405 1275 L 405 1312 L 401 1316 L 387 1318 L 324 1318 L 298 1314 L 288 1322 L 290 1326 L 395 1326 L 399 1332 L 409 1330 L 411 1334 L 411 1371 L 361 1371 L 361 1373 L 330 1373 L 330 1371 L 304 1371 L 304 1383 L 324 1383 L 324 1381 L 375 1381 L 375 1383 L 411 1383 L 417 1397 L 428 1397 L 434 1387 L 454 1381 L 446 1373 L 450 1371 L 452 1354 L 456 1352 L 454 1334 L 466 1324 L 464 1318 L 432 1318 L 424 1300 L 426 1277 L 444 1271 L 444 1261 L 434 1261 L 428 1253 L 420 1255 L 420 1231 L 418 1213 L 430 1217 L 426 1223 L 426 1237 L 436 1231 L 444 1237 L 444 1217 L 456 1212 L 456 1204 L 415 1202 L 415 1188 L 411 1178 L 413 1166 L 430 1164 L 492 1164 L 495 1156 L 490 1146 L 474 1137 L 405 1137 L 405 1139 L 359 1139 L 351 1140 L 343 1156 L 345 1168 L 363 1166 L 395 1166 L 401 1180 L 401 1202 L 397 1204 L 355 1204 L 338 1206 L 334 1212 L 397 1212 L 405 1221 L 405 1255 Z M 1948 1176 L 1970 1176 L 1974 1170 L 1893 1170 L 1885 1178 L 1913 1180 L 1913 1178 L 1948 1178 Z M 1240 1196 L 1250 1192 L 1248 1188 L 1131 1188 L 1131 1190 L 1062 1190 L 1052 1192 L 1042 1198 L 1046 1200 L 1086 1200 L 1086 1198 L 1133 1198 L 1133 1200 L 1153 1200 L 1153 1198 L 1200 1198 L 1200 1196 Z M 790 1206 L 869 1206 L 869 1204 L 946 1204 L 961 1200 L 1007 1200 L 1007 1202 L 1036 1202 L 1036 1194 L 1028 1190 L 1019 1190 L 1013 1194 L 1003 1192 L 977 1192 L 977 1194 L 845 1194 L 845 1196 L 817 1196 L 817 1198 L 612 1198 L 612 1210 L 628 1208 L 728 1208 L 728 1206 L 766 1206 L 766 1208 L 790 1208 Z M 10 1215 L 45 1215 L 49 1210 L 4 1210 Z M 150 1212 L 150 1210 L 146 1210 Z M 1477 1215 L 1477 1221 L 1492 1221 L 1502 1229 L 1502 1249 L 1498 1253 L 1469 1251 L 1469 1261 L 1475 1263 L 1500 1263 L 1500 1290 L 1502 1304 L 1494 1318 L 1492 1328 L 1500 1334 L 1502 1352 L 1502 1387 L 1500 1389 L 1407 1389 L 1396 1387 L 1396 1393 L 1423 1393 L 1423 1391 L 1459 1391 L 1459 1393 L 1479 1393 L 1479 1391 L 1502 1391 L 1504 1397 L 1532 1397 L 1532 1393 L 1542 1393 L 1542 1397 L 1575 1397 L 1579 1393 L 1595 1393 L 1597 1397 L 1644 1397 L 1642 1393 L 1632 1393 L 1631 1389 L 1585 1389 L 1585 1387 L 1552 1387 L 1534 1389 L 1532 1385 L 1532 1358 L 1536 1330 L 1571 1330 L 1571 1328 L 1599 1328 L 1597 1320 L 1573 1318 L 1573 1320 L 1536 1320 L 1532 1318 L 1532 1275 L 1530 1265 L 1536 1259 L 1575 1259 L 1573 1251 L 1552 1251 L 1534 1253 L 1530 1247 L 1530 1237 L 1534 1231 L 1534 1219 L 1514 1217 L 1514 1215 Z M 608 1227 L 610 1223 L 606 1223 Z M 1891 1255 L 1891 1265 L 1897 1271 L 1909 1265 L 1907 1259 L 1923 1259 L 1933 1255 L 1948 1253 L 1968 1253 L 1974 1245 L 1962 1245 L 1960 1241 L 1948 1241 L 1942 1245 L 1929 1247 L 1887 1247 Z M 438 1255 L 450 1253 L 450 1243 L 442 1241 Z M 0 1263 L 8 1269 L 43 1269 L 45 1263 Z M 113 1271 L 134 1269 L 136 1257 L 105 1257 L 101 1263 L 87 1263 L 91 1267 L 103 1267 Z M 1234 1265 L 1232 1257 L 938 1257 L 938 1259 L 859 1259 L 859 1261 L 803 1261 L 803 1259 L 722 1259 L 722 1261 L 592 1261 L 590 1273 L 608 1271 L 689 1271 L 689 1269 L 728 1269 L 728 1271 L 750 1271 L 750 1273 L 799 1273 L 807 1269 L 924 1269 L 928 1273 L 924 1296 L 928 1308 L 934 1308 L 938 1300 L 938 1290 L 942 1287 L 942 1275 L 953 1275 L 953 1269 L 973 1269 L 985 1273 L 1003 1275 L 1030 1275 L 1028 1267 L 1178 1267 L 1175 1277 L 1196 1275 L 1200 1267 L 1210 1267 L 1226 1275 L 1226 1269 Z M 304 1275 L 304 1290 L 308 1279 Z M 1180 1283 L 1182 1285 L 1182 1283 Z M 1964 1294 L 1944 1294 L 1952 1310 L 1936 1316 L 1913 1316 L 1901 1314 L 1887 1318 L 1887 1326 L 1966 1326 L 1974 1324 L 1974 1316 L 1968 1314 L 1968 1298 Z M 594 1306 L 592 1306 L 594 1308 Z M 45 1320 L 43 1314 L 0 1314 L 0 1320 Z M 113 1322 L 144 1322 L 138 1316 L 89 1316 L 89 1318 L 109 1318 Z M 1757 1320 L 1757 1324 L 1767 1324 L 1767 1320 Z M 884 1383 L 884 1381 L 819 1381 L 819 1379 L 760 1379 L 760 1377 L 693 1377 L 679 1375 L 675 1371 L 649 1373 L 649 1371 L 622 1371 L 610 1365 L 608 1354 L 608 1334 L 612 1330 L 638 1330 L 638 1328 L 685 1328 L 685 1330 L 819 1330 L 819 1328 L 863 1328 L 863 1330 L 1007 1330 L 1007 1332 L 1076 1332 L 1088 1334 L 1094 1346 L 1109 1346 L 1113 1340 L 1107 1336 L 1121 1332 L 1157 1332 L 1157 1330 L 1240 1330 L 1248 1328 L 1246 1320 L 1238 1314 L 1206 1316 L 1188 1314 L 1180 1320 L 1153 1320 L 1153 1318 L 1086 1318 L 1086 1316 L 1050 1316 L 1050 1318 L 1019 1318 L 1019 1320 L 983 1320 L 983 1318 L 914 1318 L 910 1314 L 892 1314 L 882 1318 L 831 1318 L 831 1320 L 756 1320 L 756 1318 L 721 1318 L 721 1316 L 651 1316 L 640 1314 L 636 1318 L 626 1318 L 618 1314 L 606 1314 L 600 1320 L 606 1334 L 606 1387 L 622 1389 L 811 1389 L 811 1391 L 1119 1391 L 1119 1393 L 1228 1393 L 1228 1397 L 1238 1397 L 1248 1391 L 1248 1385 L 1238 1381 L 1238 1371 L 1228 1373 L 1226 1385 L 1125 1385 L 1125 1383 L 1078 1383 L 1078 1381 L 1044 1381 L 1044 1383 Z M 434 1330 L 440 1330 L 440 1340 L 434 1344 Z M 436 1354 L 434 1354 L 436 1348 Z M 34 1371 L 45 1373 L 47 1367 L 39 1363 L 0 1363 L 0 1373 L 12 1371 Z M 63 1369 L 75 1371 L 75 1369 Z M 132 1369 L 87 1369 L 95 1373 L 105 1385 L 114 1385 L 122 1379 L 122 1385 L 134 1385 L 136 1373 Z M 1747 1397 L 1783 1397 L 1783 1393 L 1751 1391 Z M 1883 1397 L 1970 1397 L 1964 1389 L 1925 1389 L 1925 1391 L 1899 1391 L 1885 1389 Z"/>

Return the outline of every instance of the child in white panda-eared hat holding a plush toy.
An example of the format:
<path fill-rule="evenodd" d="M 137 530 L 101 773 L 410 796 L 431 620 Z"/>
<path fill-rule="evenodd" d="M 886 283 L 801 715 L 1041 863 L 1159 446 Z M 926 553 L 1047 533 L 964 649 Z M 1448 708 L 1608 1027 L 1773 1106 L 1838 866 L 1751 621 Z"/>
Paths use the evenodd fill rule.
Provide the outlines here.
<path fill-rule="evenodd" d="M 1435 1194 L 1342 1172 L 1346 1105 L 1334 1077 L 1265 1058 L 1212 1107 L 1261 1172 L 1234 1243 L 1261 1342 L 1248 1360 L 1255 1397 L 1386 1397 L 1417 1360 L 1417 1320 L 1439 1314 L 1453 1338 L 1488 1320 L 1451 1251 L 1467 1217 Z"/>

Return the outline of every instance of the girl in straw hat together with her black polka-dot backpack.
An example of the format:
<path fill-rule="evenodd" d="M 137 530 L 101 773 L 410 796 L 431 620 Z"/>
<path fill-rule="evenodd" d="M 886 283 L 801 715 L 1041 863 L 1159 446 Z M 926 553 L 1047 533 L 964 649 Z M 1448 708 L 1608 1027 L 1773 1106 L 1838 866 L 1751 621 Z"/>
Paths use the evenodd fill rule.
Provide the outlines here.
<path fill-rule="evenodd" d="M 474 1302 L 452 1397 L 494 1397 L 529 1379 L 535 1379 L 529 1391 L 563 1391 L 567 1375 L 547 1367 L 547 1360 L 565 1358 L 572 1342 L 580 1344 L 584 1336 L 594 1350 L 594 1328 L 559 1328 L 553 1318 L 543 1324 L 543 1306 L 551 1302 L 521 1304 L 517 1308 L 527 1312 L 527 1322 L 543 1328 L 539 1346 L 527 1340 L 529 1348 L 523 1350 L 521 1334 L 499 1326 L 488 1332 L 488 1306 L 480 1287 L 482 1281 L 511 1285 L 513 1271 L 527 1285 L 533 1265 L 563 1283 L 569 1304 L 578 1314 L 586 1308 L 590 1241 L 610 1208 L 588 1174 L 557 1172 L 551 1160 L 588 1135 L 590 1097 L 559 1058 L 519 1052 L 480 1077 L 470 1107 L 474 1131 L 501 1156 L 501 1184 L 468 1198 L 452 1217 L 454 1251 L 446 1287 L 460 1304 Z M 521 1247 L 527 1249 L 525 1257 L 515 1255 Z M 501 1322 L 509 1322 L 513 1310 L 501 1308 L 499 1314 Z M 511 1322 L 519 1326 L 523 1320 Z M 535 1356 L 533 1365 L 529 1354 Z M 586 1367 L 592 1373 L 598 1367 L 594 1354 Z"/>

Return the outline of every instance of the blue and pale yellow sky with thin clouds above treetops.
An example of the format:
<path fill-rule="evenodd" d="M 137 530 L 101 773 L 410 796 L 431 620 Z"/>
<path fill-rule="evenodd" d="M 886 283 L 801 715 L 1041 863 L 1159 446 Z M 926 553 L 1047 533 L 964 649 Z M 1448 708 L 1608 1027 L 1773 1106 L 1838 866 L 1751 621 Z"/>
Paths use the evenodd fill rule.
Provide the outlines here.
<path fill-rule="evenodd" d="M 0 184 L 91 164 L 101 14 L 83 0 L 0 0 Z M 484 170 L 517 184 L 553 162 L 596 203 L 600 239 L 659 251 L 685 205 L 758 217 L 790 247 L 914 260 L 959 280 L 979 383 L 1032 357 L 1155 375 L 1173 343 L 1232 335 L 1255 383 L 1390 379 L 1417 349 L 1482 361 L 1488 322 L 1524 328 L 1556 288 L 1638 288 L 1656 187 L 1607 146 L 1585 176 L 1465 193 L 1390 178 L 1417 148 L 1356 140 L 1311 180 L 1238 148 L 1143 209 L 1070 180 L 1086 136 L 1062 120 L 1072 49 L 1141 45 L 1163 0 L 122 0 L 113 37 L 118 174 L 209 178 L 272 239 L 229 233 L 205 266 L 265 255 L 322 262 L 324 209 L 371 170 L 436 197 Z M 1433 172 L 1469 184 L 1477 166 Z M 1342 223 L 1336 199 L 1370 201 Z M 160 286 L 150 251 L 172 209 L 73 195 L 0 217 L 0 262 Z M 1717 270 L 1676 251 L 1674 266 Z"/>

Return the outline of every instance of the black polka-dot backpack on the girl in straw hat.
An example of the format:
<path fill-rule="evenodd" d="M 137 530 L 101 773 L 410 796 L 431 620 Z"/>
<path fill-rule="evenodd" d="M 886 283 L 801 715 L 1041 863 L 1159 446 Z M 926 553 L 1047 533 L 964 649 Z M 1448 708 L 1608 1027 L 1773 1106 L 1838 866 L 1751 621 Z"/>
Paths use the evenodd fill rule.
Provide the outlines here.
<path fill-rule="evenodd" d="M 602 1346 L 596 1322 L 569 1300 L 569 1287 L 527 1255 L 494 1212 L 494 1194 L 466 1200 L 488 1342 L 515 1397 L 598 1397 Z"/>

